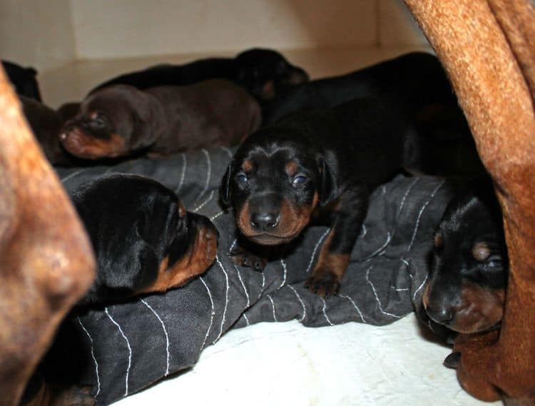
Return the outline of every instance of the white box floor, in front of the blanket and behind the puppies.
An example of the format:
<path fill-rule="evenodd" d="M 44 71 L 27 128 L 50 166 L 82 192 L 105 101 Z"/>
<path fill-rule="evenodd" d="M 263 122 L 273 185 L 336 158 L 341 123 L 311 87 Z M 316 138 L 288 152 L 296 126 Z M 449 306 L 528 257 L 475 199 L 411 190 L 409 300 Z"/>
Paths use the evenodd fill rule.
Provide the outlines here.
<path fill-rule="evenodd" d="M 312 78 L 330 76 L 402 54 L 408 49 L 287 51 Z M 116 61 L 77 61 L 41 73 L 44 101 L 77 101 L 118 73 L 206 55 Z M 224 56 L 224 55 L 223 55 Z M 348 323 L 303 328 L 297 321 L 230 331 L 208 347 L 192 370 L 127 397 L 134 405 L 483 405 L 442 366 L 449 348 L 422 338 L 414 315 L 373 327 Z"/>

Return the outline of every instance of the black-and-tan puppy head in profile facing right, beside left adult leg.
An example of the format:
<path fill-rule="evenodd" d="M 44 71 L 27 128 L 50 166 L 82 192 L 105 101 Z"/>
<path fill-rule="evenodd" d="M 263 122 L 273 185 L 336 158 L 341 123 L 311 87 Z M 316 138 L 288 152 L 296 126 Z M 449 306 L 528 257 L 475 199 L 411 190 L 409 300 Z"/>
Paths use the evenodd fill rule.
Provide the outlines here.
<path fill-rule="evenodd" d="M 88 303 L 183 285 L 213 263 L 218 231 L 172 191 L 135 175 L 102 176 L 73 193 L 98 270 Z"/>

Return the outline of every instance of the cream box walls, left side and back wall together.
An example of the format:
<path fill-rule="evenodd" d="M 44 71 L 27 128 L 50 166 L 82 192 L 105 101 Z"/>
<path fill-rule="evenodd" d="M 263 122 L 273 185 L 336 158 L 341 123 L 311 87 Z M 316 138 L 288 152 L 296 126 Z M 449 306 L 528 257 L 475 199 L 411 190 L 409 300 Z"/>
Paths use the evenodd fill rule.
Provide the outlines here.
<path fill-rule="evenodd" d="M 0 0 L 0 58 L 74 59 L 426 44 L 402 0 Z"/>

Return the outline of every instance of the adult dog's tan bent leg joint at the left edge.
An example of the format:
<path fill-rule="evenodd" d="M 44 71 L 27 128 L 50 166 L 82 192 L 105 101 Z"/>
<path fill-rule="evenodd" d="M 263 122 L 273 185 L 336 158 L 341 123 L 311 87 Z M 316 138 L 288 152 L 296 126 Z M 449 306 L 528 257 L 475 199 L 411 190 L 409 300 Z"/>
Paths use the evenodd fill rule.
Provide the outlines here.
<path fill-rule="evenodd" d="M 18 405 L 95 262 L 2 69 L 0 123 L 0 405 Z"/>

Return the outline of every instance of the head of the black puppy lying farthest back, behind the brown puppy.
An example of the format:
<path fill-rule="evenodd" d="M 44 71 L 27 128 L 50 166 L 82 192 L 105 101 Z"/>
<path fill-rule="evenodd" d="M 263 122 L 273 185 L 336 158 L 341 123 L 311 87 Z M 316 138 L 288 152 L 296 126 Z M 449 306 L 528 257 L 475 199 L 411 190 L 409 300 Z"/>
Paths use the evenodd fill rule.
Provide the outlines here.
<path fill-rule="evenodd" d="M 236 56 L 238 81 L 253 96 L 270 100 L 281 87 L 295 86 L 309 80 L 308 74 L 293 66 L 284 56 L 270 49 L 249 49 Z"/>

